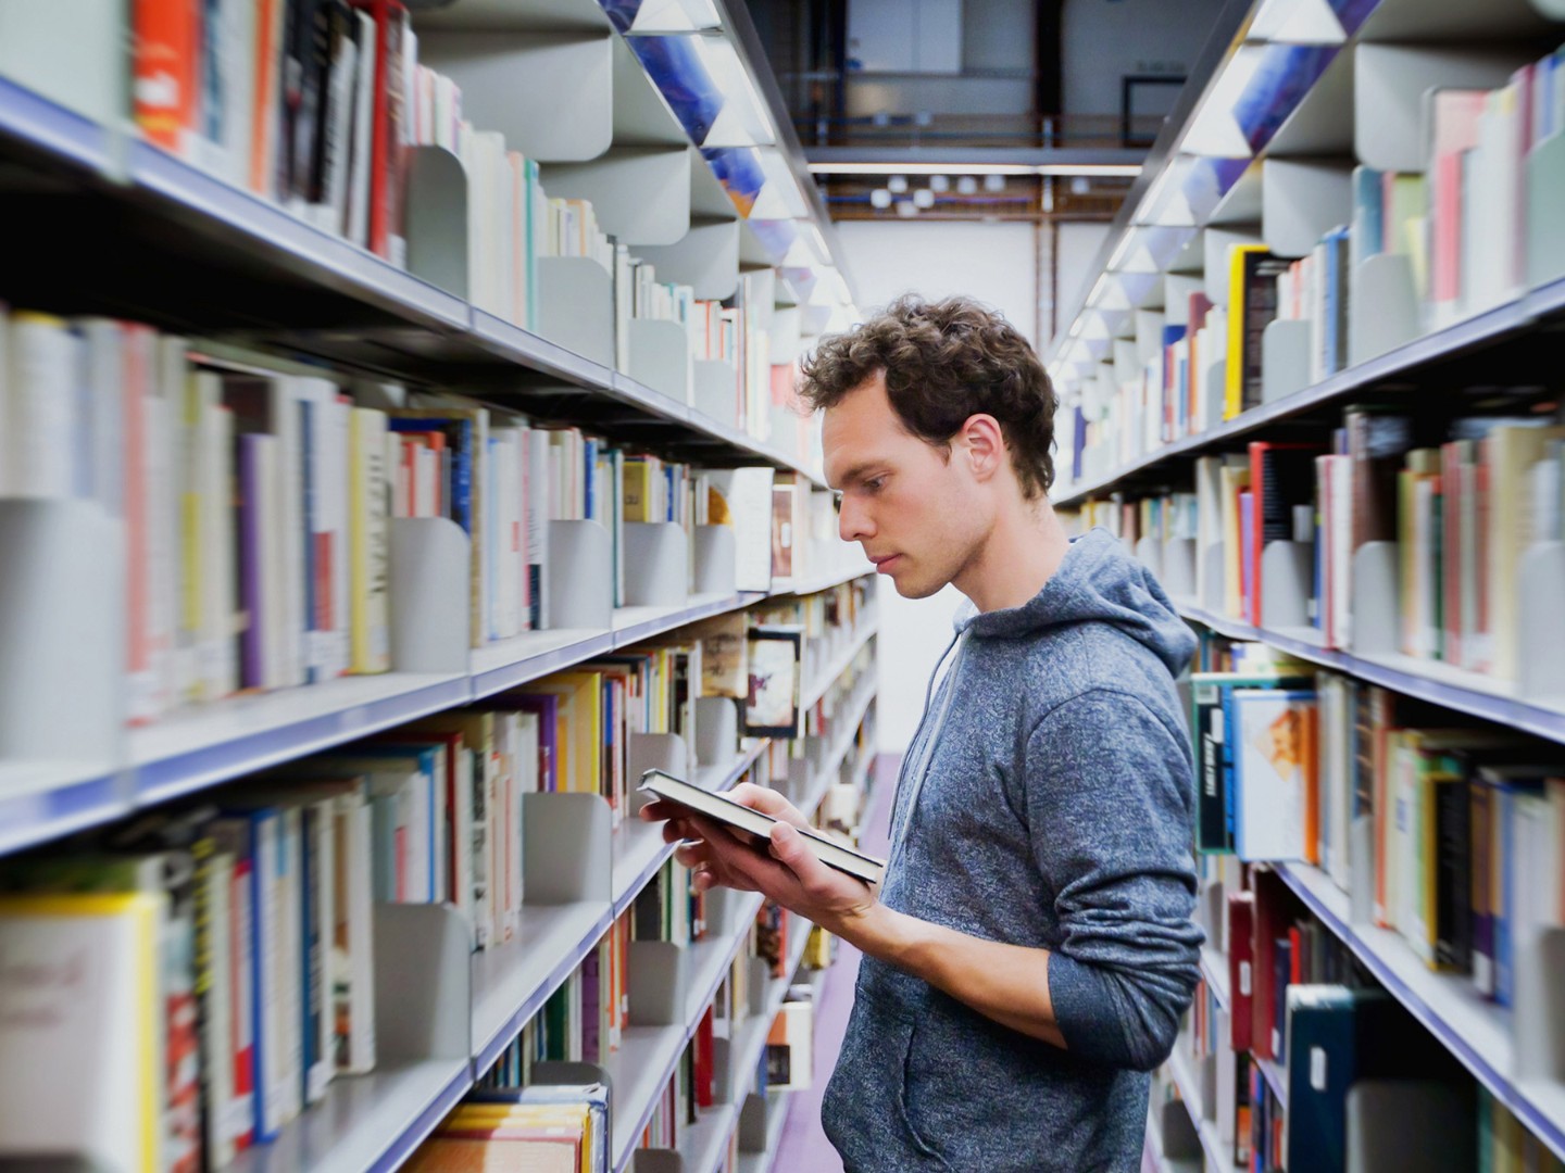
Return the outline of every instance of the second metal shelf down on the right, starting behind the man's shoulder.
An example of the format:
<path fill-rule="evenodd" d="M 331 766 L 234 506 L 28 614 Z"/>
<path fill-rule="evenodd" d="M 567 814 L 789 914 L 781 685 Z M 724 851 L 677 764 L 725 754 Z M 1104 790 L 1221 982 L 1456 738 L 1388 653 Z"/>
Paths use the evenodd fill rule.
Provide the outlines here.
<path fill-rule="evenodd" d="M 1523 701 L 1516 687 L 1507 680 L 1410 655 L 1360 657 L 1322 647 L 1313 627 L 1271 630 L 1229 619 L 1188 601 L 1175 601 L 1175 607 L 1186 619 L 1232 640 L 1266 643 L 1301 660 L 1335 668 L 1405 696 L 1565 743 L 1565 699 L 1554 704 Z"/>

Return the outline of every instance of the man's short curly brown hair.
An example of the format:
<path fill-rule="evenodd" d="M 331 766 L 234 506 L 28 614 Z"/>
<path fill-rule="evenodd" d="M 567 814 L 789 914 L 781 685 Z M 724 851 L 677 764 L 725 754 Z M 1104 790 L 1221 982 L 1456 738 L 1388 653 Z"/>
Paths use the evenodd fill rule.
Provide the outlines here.
<path fill-rule="evenodd" d="M 1022 493 L 1055 483 L 1058 397 L 1033 347 L 998 313 L 969 297 L 906 294 L 848 333 L 822 339 L 801 366 L 800 397 L 822 410 L 886 372 L 903 425 L 947 457 L 969 416 L 1000 422 Z"/>

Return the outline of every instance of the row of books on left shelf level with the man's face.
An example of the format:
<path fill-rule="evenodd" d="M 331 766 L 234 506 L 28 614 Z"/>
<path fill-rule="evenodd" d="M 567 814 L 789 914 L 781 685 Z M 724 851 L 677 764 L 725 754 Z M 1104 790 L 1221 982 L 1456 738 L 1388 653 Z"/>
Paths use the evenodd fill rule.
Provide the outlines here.
<path fill-rule="evenodd" d="M 751 532 L 736 579 L 809 569 L 829 494 L 693 469 L 451 394 L 405 396 L 110 319 L 0 316 L 0 496 L 125 524 L 131 719 L 390 668 L 390 522 L 468 535 L 473 646 L 551 626 L 551 521 Z M 363 407 L 362 400 L 412 402 Z M 773 519 L 778 519 L 776 522 Z M 768 535 L 761 541 L 761 535 Z M 798 566 L 795 566 L 798 561 Z"/>

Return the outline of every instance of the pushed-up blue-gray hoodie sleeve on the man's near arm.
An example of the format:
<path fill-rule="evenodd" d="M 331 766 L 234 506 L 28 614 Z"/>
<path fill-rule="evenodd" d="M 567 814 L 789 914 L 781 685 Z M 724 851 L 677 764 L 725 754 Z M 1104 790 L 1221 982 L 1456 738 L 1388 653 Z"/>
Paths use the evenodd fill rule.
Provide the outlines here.
<path fill-rule="evenodd" d="M 1072 1054 L 1150 1071 L 1200 978 L 1189 749 L 1131 693 L 1094 688 L 1027 743 L 1027 815 L 1064 940 L 1049 959 Z"/>

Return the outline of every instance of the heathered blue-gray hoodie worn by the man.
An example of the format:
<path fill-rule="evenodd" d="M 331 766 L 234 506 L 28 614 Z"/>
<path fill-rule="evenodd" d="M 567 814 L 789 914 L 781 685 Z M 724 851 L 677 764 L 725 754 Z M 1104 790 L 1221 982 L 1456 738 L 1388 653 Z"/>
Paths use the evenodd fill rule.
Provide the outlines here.
<path fill-rule="evenodd" d="M 1103 530 L 1013 610 L 958 616 L 903 762 L 881 899 L 1044 948 L 1067 1049 L 865 957 L 822 1118 L 848 1173 L 1141 1164 L 1149 1076 L 1199 979 L 1196 791 L 1174 677 L 1196 646 Z"/>

